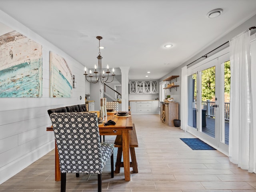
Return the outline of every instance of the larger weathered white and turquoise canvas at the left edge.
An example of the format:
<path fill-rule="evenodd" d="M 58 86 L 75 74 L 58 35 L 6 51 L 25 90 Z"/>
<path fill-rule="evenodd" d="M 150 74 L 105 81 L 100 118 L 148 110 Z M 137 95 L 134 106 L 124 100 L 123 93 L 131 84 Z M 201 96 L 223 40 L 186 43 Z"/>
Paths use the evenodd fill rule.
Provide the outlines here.
<path fill-rule="evenodd" d="M 42 96 L 42 46 L 13 30 L 0 35 L 0 97 Z"/>

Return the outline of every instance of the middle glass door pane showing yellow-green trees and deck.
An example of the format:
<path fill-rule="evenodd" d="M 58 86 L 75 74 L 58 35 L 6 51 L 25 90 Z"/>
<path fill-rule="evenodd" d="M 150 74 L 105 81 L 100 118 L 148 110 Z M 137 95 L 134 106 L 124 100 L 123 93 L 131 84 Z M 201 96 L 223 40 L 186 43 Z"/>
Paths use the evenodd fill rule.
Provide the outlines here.
<path fill-rule="evenodd" d="M 201 72 L 201 105 L 202 132 L 215 138 L 215 66 Z"/>

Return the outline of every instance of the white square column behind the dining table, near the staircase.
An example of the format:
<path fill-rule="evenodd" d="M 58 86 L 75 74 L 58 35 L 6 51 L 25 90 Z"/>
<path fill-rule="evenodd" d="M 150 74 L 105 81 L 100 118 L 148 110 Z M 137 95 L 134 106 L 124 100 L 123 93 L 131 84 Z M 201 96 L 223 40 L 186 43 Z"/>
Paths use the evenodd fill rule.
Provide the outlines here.
<path fill-rule="evenodd" d="M 128 111 L 129 102 L 129 68 L 130 67 L 120 67 L 122 74 L 122 111 Z"/>

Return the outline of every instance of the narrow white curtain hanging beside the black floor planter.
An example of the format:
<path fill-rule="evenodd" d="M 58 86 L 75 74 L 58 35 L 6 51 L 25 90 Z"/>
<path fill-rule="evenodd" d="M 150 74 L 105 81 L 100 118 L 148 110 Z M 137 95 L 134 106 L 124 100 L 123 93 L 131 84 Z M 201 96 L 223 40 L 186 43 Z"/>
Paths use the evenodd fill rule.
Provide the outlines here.
<path fill-rule="evenodd" d="M 181 68 L 180 128 L 186 131 L 188 126 L 188 78 L 187 66 Z"/>

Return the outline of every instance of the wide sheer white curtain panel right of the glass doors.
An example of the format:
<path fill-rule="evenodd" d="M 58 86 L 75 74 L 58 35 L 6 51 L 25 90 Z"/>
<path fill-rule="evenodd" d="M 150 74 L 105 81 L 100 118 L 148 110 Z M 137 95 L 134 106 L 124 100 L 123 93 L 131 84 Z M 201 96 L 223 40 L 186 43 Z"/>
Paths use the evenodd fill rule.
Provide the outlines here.
<path fill-rule="evenodd" d="M 230 70 L 229 158 L 238 167 L 251 171 L 250 30 L 230 40 Z"/>

